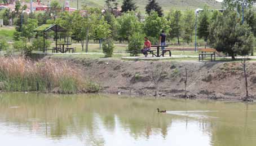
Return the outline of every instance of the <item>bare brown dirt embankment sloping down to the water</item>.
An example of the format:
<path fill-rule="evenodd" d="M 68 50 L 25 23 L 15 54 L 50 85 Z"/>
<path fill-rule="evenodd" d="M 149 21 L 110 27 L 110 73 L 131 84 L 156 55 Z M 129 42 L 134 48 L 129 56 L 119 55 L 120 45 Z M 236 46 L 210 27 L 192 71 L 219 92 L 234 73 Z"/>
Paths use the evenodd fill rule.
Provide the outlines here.
<path fill-rule="evenodd" d="M 153 76 L 161 76 L 157 78 L 158 94 L 181 96 L 185 93 L 187 68 L 187 91 L 191 97 L 241 99 L 245 96 L 244 76 L 239 62 L 69 60 L 80 66 L 92 81 L 100 83 L 105 93 L 155 95 L 156 78 L 154 80 Z M 256 63 L 248 63 L 248 76 L 249 94 L 255 96 Z"/>

